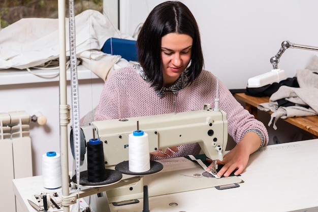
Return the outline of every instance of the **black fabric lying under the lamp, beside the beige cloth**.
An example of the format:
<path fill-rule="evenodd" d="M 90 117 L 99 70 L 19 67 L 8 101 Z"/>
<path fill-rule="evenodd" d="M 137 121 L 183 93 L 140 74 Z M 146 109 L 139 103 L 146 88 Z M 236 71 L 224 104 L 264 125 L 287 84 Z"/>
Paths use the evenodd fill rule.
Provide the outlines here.
<path fill-rule="evenodd" d="M 279 83 L 272 83 L 272 84 L 265 85 L 265 86 L 259 87 L 259 88 L 246 87 L 245 94 L 249 95 L 249 96 L 257 96 L 257 97 L 271 96 L 282 85 L 294 87 L 294 88 L 299 88 L 297 78 L 293 77 L 293 78 L 287 78 L 285 80 L 282 80 Z"/>

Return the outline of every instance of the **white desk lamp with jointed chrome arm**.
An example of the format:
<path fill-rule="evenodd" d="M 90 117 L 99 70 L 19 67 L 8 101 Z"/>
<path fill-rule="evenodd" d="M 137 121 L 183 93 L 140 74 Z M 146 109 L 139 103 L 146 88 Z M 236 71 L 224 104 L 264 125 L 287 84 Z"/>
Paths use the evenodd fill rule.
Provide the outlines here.
<path fill-rule="evenodd" d="M 284 70 L 278 68 L 279 58 L 284 53 L 285 50 L 288 48 L 295 48 L 295 49 L 305 49 L 305 50 L 312 50 L 318 51 L 318 47 L 315 46 L 305 46 L 299 44 L 293 44 L 289 41 L 283 41 L 281 43 L 281 48 L 278 50 L 277 54 L 274 57 L 271 57 L 270 62 L 273 65 L 273 69 L 271 72 L 249 78 L 247 81 L 248 88 L 259 88 L 268 84 L 272 84 L 274 82 L 279 82 L 282 79 L 285 79 Z"/>

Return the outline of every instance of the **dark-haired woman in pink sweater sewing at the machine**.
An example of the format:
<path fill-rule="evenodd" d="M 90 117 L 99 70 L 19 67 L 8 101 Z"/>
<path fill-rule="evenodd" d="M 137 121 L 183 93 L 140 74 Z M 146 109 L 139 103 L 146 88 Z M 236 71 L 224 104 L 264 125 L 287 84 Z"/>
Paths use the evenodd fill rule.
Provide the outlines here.
<path fill-rule="evenodd" d="M 207 70 L 199 28 L 193 14 L 180 2 L 156 6 L 147 17 L 137 39 L 140 64 L 114 71 L 101 95 L 95 120 L 119 119 L 202 110 L 213 107 L 218 92 L 219 108 L 227 113 L 228 132 L 237 145 L 219 164 L 218 176 L 240 174 L 249 155 L 267 145 L 263 123 L 254 119 L 230 91 Z M 171 147 L 151 153 L 152 160 L 199 154 L 198 144 Z M 208 170 L 212 164 L 208 167 Z"/>

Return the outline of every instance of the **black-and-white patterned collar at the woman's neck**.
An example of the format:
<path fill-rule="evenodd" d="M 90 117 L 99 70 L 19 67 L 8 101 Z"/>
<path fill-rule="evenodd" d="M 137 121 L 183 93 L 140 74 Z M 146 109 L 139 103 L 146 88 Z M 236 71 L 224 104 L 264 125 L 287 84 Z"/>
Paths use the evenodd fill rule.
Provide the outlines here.
<path fill-rule="evenodd" d="M 134 68 L 136 69 L 136 72 L 140 75 L 142 79 L 144 79 L 147 83 L 151 84 L 140 64 L 135 64 Z M 186 73 L 188 73 L 187 68 L 184 69 L 184 71 L 181 73 L 181 75 L 173 85 L 169 87 L 162 87 L 160 90 L 156 90 L 155 92 L 157 96 L 162 97 L 166 92 L 173 92 L 175 95 L 177 95 L 179 90 L 182 90 L 186 87 L 189 78 L 186 75 Z"/>

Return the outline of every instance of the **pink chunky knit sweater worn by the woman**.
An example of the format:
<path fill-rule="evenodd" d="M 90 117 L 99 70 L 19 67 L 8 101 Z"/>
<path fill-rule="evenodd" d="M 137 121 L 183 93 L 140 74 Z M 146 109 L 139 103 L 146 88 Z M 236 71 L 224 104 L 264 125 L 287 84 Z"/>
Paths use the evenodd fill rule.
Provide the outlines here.
<path fill-rule="evenodd" d="M 105 82 L 99 106 L 94 120 L 119 119 L 139 116 L 167 114 L 174 111 L 185 112 L 202 110 L 205 103 L 214 108 L 217 78 L 207 70 L 203 70 L 192 85 L 180 90 L 177 95 L 166 92 L 158 97 L 153 88 L 143 80 L 133 66 L 113 71 Z M 219 108 L 227 113 L 228 133 L 235 142 L 239 142 L 248 129 L 260 130 L 268 144 L 268 133 L 264 124 L 256 120 L 233 97 L 226 86 L 218 83 Z M 199 154 L 198 144 L 178 147 L 179 152 L 173 157 Z M 151 157 L 152 160 L 161 159 Z"/>

